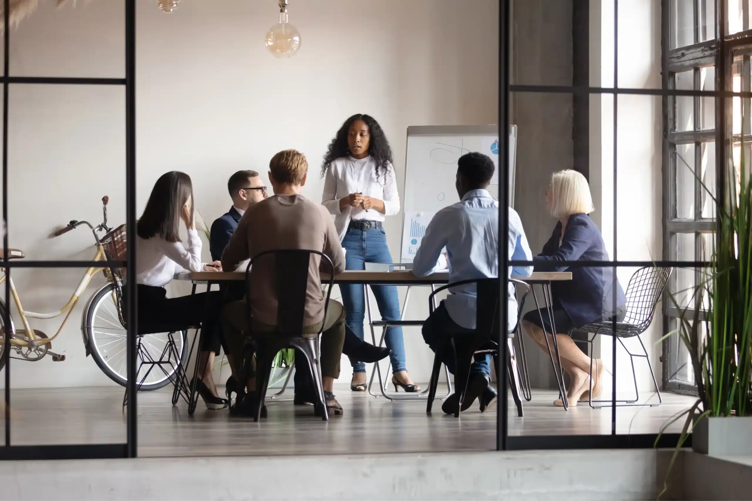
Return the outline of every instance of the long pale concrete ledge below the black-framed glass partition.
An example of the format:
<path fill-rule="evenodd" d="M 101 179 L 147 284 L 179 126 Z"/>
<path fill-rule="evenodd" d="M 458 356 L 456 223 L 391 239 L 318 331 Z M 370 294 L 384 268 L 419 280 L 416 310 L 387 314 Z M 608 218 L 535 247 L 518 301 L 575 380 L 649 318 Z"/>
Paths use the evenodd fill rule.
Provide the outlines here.
<path fill-rule="evenodd" d="M 4 501 L 647 501 L 663 487 L 663 466 L 671 454 L 599 450 L 23 461 L 2 464 L 0 485 Z M 678 461 L 675 474 L 681 466 Z"/>

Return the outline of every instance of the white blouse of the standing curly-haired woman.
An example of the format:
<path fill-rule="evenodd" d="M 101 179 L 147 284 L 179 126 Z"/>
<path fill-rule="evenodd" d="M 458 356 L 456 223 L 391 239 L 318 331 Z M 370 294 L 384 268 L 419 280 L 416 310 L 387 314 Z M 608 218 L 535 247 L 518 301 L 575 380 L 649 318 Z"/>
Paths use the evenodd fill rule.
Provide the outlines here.
<path fill-rule="evenodd" d="M 361 207 L 350 207 L 340 211 L 339 200 L 350 193 L 362 193 L 384 202 L 385 214 L 376 209 L 363 210 Z M 376 162 L 371 156 L 364 159 L 354 159 L 343 156 L 329 164 L 324 178 L 324 193 L 321 203 L 334 215 L 334 224 L 339 233 L 340 241 L 347 232 L 350 220 L 367 219 L 384 221 L 387 216 L 399 214 L 399 193 L 394 167 L 390 164 L 389 172 L 379 172 L 376 175 Z"/>

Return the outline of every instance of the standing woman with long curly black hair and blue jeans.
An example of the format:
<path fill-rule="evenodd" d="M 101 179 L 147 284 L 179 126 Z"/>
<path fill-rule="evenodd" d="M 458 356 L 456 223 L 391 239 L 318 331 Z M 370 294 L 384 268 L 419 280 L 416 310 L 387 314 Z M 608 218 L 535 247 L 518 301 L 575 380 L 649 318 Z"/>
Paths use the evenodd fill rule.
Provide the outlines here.
<path fill-rule="evenodd" d="M 347 250 L 347 269 L 365 269 L 365 263 L 392 263 L 387 247 L 385 217 L 399 214 L 399 193 L 392 165 L 392 149 L 384 130 L 373 117 L 353 115 L 345 120 L 329 144 L 321 166 L 324 179 L 322 204 L 335 216 L 342 247 Z M 347 326 L 363 339 L 365 294 L 360 284 L 340 285 Z M 381 318 L 399 320 L 399 297 L 393 285 L 371 285 Z M 405 366 L 402 327 L 389 327 L 392 384 L 407 392 L 420 391 Z M 350 389 L 365 391 L 365 364 L 350 359 Z"/>

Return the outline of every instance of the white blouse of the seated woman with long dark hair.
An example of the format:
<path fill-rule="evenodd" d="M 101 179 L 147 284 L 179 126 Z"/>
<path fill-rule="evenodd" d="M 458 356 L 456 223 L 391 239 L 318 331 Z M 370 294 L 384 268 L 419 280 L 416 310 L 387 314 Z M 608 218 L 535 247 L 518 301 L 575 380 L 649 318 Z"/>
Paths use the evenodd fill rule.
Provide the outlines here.
<path fill-rule="evenodd" d="M 136 283 L 165 287 L 175 273 L 200 272 L 201 238 L 196 229 L 188 230 L 187 246 L 179 241 L 166 241 L 160 236 L 138 237 L 136 247 Z"/>

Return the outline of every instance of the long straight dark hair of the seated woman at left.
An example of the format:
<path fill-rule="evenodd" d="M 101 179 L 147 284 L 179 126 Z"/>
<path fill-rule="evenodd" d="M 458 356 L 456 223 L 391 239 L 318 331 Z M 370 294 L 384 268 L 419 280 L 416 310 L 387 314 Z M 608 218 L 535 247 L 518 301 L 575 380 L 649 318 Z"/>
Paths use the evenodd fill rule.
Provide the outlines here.
<path fill-rule="evenodd" d="M 180 214 L 188 199 L 193 205 L 193 184 L 184 172 L 171 171 L 159 177 L 151 190 L 144 214 L 136 223 L 141 238 L 161 236 L 166 241 L 180 241 Z M 193 207 L 191 208 L 193 213 Z"/>

